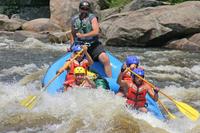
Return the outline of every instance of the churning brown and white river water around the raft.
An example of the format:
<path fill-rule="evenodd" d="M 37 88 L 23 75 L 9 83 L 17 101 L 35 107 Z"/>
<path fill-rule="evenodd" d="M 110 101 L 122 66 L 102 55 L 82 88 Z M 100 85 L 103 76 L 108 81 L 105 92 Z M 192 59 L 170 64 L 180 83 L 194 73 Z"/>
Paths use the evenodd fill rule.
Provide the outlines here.
<path fill-rule="evenodd" d="M 42 93 L 28 110 L 19 101 L 41 94 L 47 68 L 66 52 L 66 44 L 44 44 L 33 38 L 23 43 L 0 37 L 0 132 L 19 133 L 199 133 L 200 120 L 188 120 L 163 96 L 161 101 L 177 116 L 161 121 L 125 107 L 112 92 L 72 90 L 51 96 Z M 166 94 L 200 110 L 200 53 L 160 48 L 106 47 L 123 60 L 139 56 L 146 79 Z"/>

